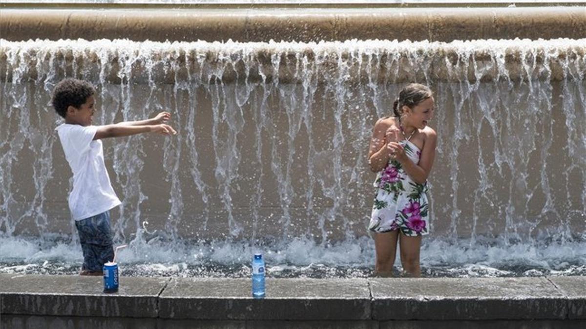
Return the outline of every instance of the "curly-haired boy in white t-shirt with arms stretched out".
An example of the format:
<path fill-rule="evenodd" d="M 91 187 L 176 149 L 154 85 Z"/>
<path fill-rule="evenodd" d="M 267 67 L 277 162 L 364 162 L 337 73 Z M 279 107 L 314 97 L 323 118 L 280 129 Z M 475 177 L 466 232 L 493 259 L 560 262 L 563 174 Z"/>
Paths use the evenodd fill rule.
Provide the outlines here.
<path fill-rule="evenodd" d="M 94 94 L 96 90 L 90 83 L 67 78 L 55 86 L 52 99 L 55 111 L 65 119 L 55 130 L 73 172 L 69 209 L 83 251 L 80 275 L 103 275 L 104 263 L 114 258 L 110 209 L 121 202 L 110 184 L 100 139 L 144 132 L 176 134 L 171 126 L 164 124 L 171 118 L 168 112 L 144 121 L 93 126 Z"/>

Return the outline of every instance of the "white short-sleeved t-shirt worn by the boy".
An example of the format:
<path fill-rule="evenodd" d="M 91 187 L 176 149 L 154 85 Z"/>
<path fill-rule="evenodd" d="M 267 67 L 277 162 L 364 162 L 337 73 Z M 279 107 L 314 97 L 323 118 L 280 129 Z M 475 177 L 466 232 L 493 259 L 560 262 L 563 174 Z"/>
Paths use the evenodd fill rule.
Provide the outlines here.
<path fill-rule="evenodd" d="M 97 126 L 70 124 L 55 128 L 73 172 L 69 209 L 76 221 L 104 213 L 121 204 L 110 184 L 102 141 L 93 140 L 97 129 Z"/>

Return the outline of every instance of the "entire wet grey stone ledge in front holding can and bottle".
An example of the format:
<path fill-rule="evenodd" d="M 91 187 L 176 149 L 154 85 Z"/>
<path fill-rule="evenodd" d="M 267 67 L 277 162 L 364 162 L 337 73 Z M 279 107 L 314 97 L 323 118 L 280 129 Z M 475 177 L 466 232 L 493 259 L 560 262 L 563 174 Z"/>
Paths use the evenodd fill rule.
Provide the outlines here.
<path fill-rule="evenodd" d="M 1 324 L 33 327 L 584 328 L 586 277 L 248 279 L 0 275 Z"/>

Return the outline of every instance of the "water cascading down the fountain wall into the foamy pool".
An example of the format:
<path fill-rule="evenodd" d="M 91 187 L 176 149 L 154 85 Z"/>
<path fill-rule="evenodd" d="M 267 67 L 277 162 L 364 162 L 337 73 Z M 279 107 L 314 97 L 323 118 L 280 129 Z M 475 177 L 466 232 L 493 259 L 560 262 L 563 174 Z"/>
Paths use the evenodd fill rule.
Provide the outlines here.
<path fill-rule="evenodd" d="M 585 53 L 586 39 L 0 40 L 0 262 L 81 257 L 50 107 L 76 77 L 97 88 L 97 124 L 165 110 L 180 132 L 104 142 L 122 261 L 225 275 L 196 265 L 240 273 L 260 248 L 273 273 L 365 274 L 372 126 L 414 81 L 437 107 L 428 275 L 585 273 Z"/>

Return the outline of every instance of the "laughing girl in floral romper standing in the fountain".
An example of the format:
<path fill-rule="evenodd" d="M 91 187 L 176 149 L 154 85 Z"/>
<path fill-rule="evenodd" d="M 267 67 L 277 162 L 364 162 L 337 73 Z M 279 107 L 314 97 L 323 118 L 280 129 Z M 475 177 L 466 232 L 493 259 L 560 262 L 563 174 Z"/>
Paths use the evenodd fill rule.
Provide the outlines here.
<path fill-rule="evenodd" d="M 429 233 L 427 177 L 437 135 L 427 126 L 434 113 L 430 88 L 409 84 L 393 104 L 394 117 L 379 119 L 370 140 L 369 165 L 378 172 L 369 230 L 374 232 L 375 275 L 391 276 L 397 241 L 403 270 L 421 275 L 421 236 Z"/>

